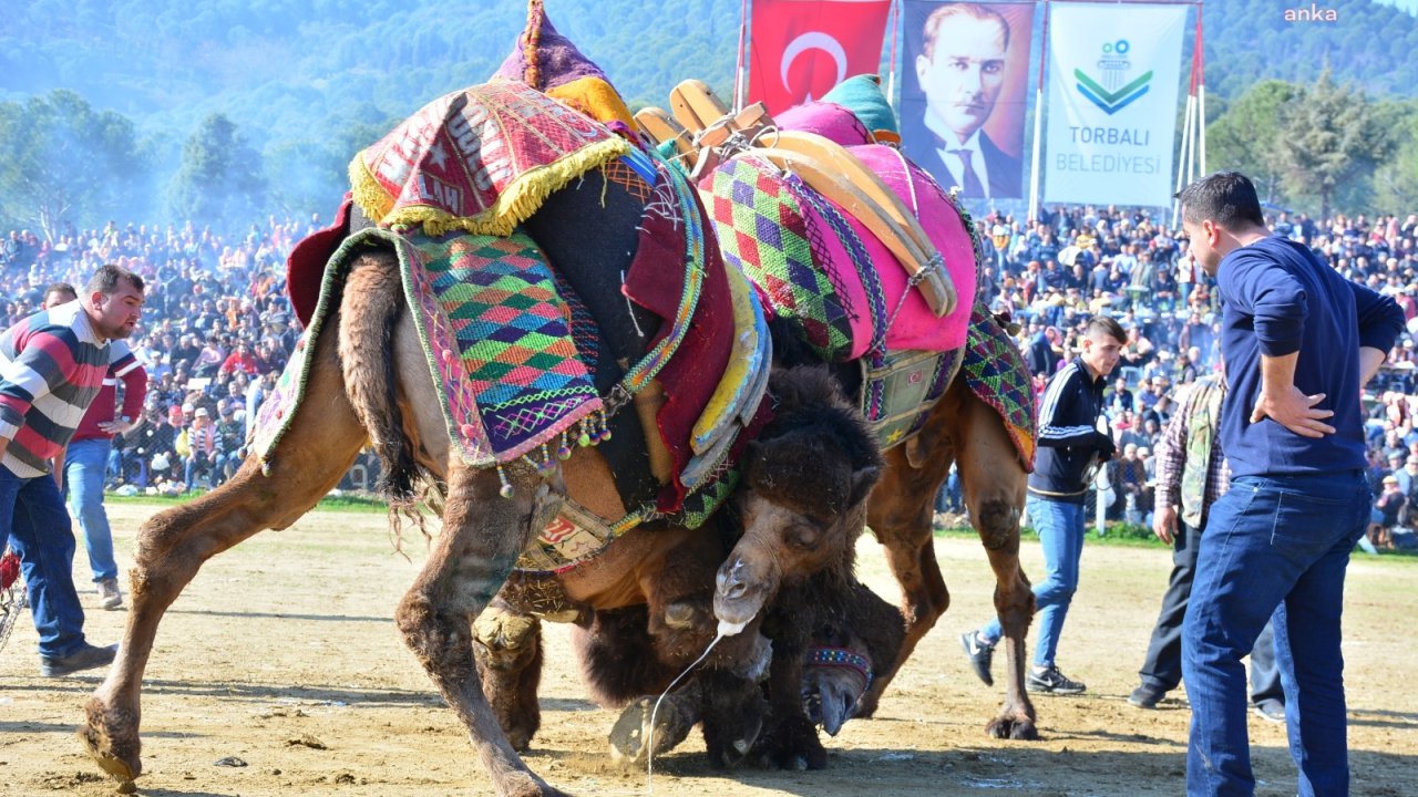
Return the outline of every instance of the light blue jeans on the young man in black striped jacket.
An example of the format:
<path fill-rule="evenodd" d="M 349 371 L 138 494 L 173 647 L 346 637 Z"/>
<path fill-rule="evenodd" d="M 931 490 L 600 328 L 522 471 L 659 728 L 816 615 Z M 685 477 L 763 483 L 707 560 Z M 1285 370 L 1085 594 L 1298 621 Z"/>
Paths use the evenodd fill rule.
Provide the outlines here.
<path fill-rule="evenodd" d="M 1078 590 L 1078 563 L 1083 556 L 1083 503 L 1056 501 L 1029 494 L 1025 498 L 1029 519 L 1044 543 L 1044 580 L 1034 584 L 1034 604 L 1039 620 L 1039 641 L 1034 647 L 1035 667 L 1054 667 L 1054 654 L 1064 632 L 1068 606 Z M 1000 641 L 1004 630 L 994 618 L 980 630 L 990 642 Z"/>

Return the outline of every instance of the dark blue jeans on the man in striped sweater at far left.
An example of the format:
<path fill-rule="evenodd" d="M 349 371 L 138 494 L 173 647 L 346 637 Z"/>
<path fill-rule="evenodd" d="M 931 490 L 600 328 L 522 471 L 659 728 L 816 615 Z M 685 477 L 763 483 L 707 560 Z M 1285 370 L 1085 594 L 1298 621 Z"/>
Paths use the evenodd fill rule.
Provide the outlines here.
<path fill-rule="evenodd" d="M 24 479 L 0 465 L 0 532 L 20 556 L 40 655 L 84 647 L 84 607 L 74 591 L 74 526 L 54 476 Z"/>

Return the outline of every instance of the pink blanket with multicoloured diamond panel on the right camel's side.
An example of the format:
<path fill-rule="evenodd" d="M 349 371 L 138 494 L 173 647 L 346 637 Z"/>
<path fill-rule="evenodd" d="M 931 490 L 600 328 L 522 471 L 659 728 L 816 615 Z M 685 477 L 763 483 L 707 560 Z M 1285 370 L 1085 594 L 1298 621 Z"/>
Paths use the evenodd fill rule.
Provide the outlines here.
<path fill-rule="evenodd" d="M 720 165 L 709 186 L 725 260 L 763 291 L 780 318 L 822 359 L 868 352 L 950 352 L 964 346 L 974 302 L 974 235 L 929 174 L 881 145 L 848 150 L 912 208 L 940 251 L 959 296 L 936 318 L 891 250 L 841 206 L 756 156 Z"/>

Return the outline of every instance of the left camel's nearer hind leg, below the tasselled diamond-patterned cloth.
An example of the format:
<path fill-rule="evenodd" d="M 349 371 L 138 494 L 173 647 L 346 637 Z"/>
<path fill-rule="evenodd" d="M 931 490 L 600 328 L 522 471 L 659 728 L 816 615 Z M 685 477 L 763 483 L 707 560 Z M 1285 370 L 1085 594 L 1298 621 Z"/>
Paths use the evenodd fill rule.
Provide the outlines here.
<path fill-rule="evenodd" d="M 462 720 L 499 797 L 562 794 L 512 749 L 482 692 L 472 652 L 472 621 L 502 587 L 535 529 L 560 502 L 532 468 L 508 468 L 512 498 L 498 474 L 454 464 L 444 528 L 394 620 L 434 686 Z"/>

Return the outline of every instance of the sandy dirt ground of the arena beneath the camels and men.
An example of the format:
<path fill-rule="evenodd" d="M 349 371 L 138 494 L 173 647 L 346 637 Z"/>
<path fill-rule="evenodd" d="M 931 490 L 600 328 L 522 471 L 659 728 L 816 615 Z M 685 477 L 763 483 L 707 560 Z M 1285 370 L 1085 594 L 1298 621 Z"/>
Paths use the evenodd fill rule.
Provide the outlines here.
<path fill-rule="evenodd" d="M 111 508 L 119 564 L 153 512 Z M 169 611 L 147 669 L 140 794 L 162 797 L 492 794 L 461 726 L 442 708 L 391 621 L 414 562 L 393 552 L 384 518 L 318 512 L 207 564 Z M 698 733 L 657 759 L 654 777 L 605 756 L 615 712 L 586 699 L 564 628 L 552 627 L 543 723 L 532 769 L 573 794 L 1046 794 L 1136 797 L 1183 791 L 1188 712 L 1181 692 L 1159 710 L 1129 706 L 1170 556 L 1090 545 L 1059 664 L 1085 695 L 1037 701 L 1044 740 L 983 733 L 1000 696 L 967 671 L 956 642 L 990 610 L 988 569 L 973 540 L 937 540 L 951 610 L 922 642 L 873 720 L 828 739 L 827 771 L 716 771 Z M 79 560 L 84 559 L 82 549 Z M 862 574 L 895 597 L 879 549 Z M 1038 572 L 1038 543 L 1025 567 Z M 96 600 L 86 564 L 81 598 Z M 78 570 L 77 570 L 78 573 Z M 1360 556 L 1350 567 L 1349 662 L 1353 794 L 1414 794 L 1418 783 L 1418 560 Z M 126 593 L 126 590 L 125 590 Z M 118 640 L 122 611 L 89 610 L 92 641 Z M 113 794 L 74 729 L 98 675 L 38 676 L 34 630 L 0 651 L 0 794 Z M 1251 722 L 1258 794 L 1295 794 L 1285 729 Z M 235 760 L 241 766 L 230 766 Z"/>

